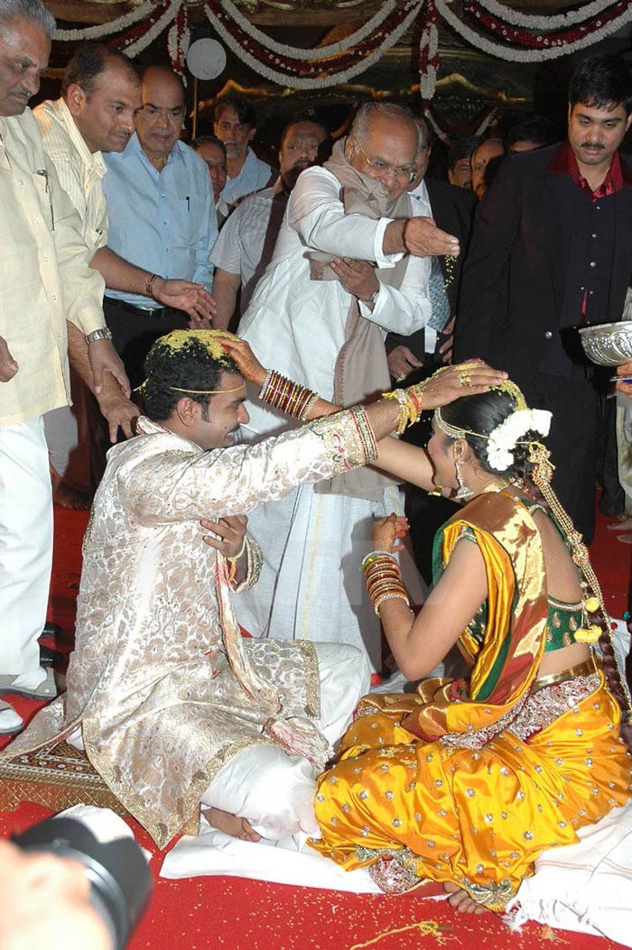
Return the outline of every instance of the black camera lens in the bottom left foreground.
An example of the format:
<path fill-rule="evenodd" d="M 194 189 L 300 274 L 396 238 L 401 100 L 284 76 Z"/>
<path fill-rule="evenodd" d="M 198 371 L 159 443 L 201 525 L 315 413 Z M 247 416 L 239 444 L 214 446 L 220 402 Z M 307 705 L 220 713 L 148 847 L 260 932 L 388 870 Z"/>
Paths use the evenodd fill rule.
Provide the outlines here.
<path fill-rule="evenodd" d="M 151 894 L 151 874 L 133 838 L 102 842 L 75 818 L 48 818 L 13 842 L 29 852 L 73 858 L 84 866 L 90 903 L 105 923 L 112 946 L 124 950 Z"/>

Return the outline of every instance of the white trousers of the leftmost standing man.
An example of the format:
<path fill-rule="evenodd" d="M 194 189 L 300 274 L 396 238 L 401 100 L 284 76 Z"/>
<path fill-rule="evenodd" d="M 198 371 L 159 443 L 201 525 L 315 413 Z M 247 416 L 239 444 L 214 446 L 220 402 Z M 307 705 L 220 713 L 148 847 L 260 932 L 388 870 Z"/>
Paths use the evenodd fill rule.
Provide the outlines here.
<path fill-rule="evenodd" d="M 52 566 L 52 498 L 42 416 L 0 428 L 0 674 L 39 669 Z"/>

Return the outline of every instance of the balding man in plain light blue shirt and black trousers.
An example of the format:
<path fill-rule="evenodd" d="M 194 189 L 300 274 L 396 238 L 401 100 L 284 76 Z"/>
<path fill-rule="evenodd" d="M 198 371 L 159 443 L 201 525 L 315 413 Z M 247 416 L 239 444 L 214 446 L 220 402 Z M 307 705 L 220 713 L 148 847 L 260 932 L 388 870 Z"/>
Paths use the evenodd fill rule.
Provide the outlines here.
<path fill-rule="evenodd" d="M 105 295 L 107 326 L 132 386 L 144 379 L 144 357 L 153 341 L 189 325 L 187 314 L 152 297 L 155 276 L 182 277 L 207 290 L 211 284 L 215 202 L 205 163 L 180 142 L 183 116 L 180 78 L 163 66 L 149 66 L 136 134 L 124 152 L 105 156 L 108 247 L 152 275 L 138 294 L 108 286 Z"/>

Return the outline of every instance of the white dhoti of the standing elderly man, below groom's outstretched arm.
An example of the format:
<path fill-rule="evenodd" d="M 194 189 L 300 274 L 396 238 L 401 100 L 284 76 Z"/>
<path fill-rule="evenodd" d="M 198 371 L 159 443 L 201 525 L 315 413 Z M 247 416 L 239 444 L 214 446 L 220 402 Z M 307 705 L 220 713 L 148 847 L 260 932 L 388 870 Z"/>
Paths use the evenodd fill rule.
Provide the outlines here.
<path fill-rule="evenodd" d="M 319 494 L 300 485 L 278 502 L 248 516 L 248 533 L 259 542 L 259 582 L 234 601 L 241 626 L 253 637 L 349 643 L 382 669 L 379 618 L 359 570 L 372 548 L 373 520 L 403 514 L 399 489 L 384 490 L 382 502 Z M 404 583 L 413 603 L 423 600 L 412 557 L 401 554 Z"/>

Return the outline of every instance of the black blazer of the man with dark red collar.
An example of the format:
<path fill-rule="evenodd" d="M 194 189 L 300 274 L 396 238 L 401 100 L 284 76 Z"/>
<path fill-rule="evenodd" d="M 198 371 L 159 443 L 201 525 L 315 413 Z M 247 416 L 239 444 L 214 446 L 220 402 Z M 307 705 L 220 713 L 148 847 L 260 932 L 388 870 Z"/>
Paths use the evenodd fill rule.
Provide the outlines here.
<path fill-rule="evenodd" d="M 534 371 L 577 372 L 577 269 L 588 260 L 591 239 L 607 241 L 611 251 L 588 322 L 621 319 L 632 271 L 632 169 L 622 159 L 622 189 L 593 203 L 568 175 L 546 171 L 559 149 L 558 143 L 503 162 L 477 208 L 461 278 L 454 360 L 483 356 L 517 382 Z M 594 209 L 602 202 L 613 203 L 602 205 L 609 225 L 598 235 Z"/>

